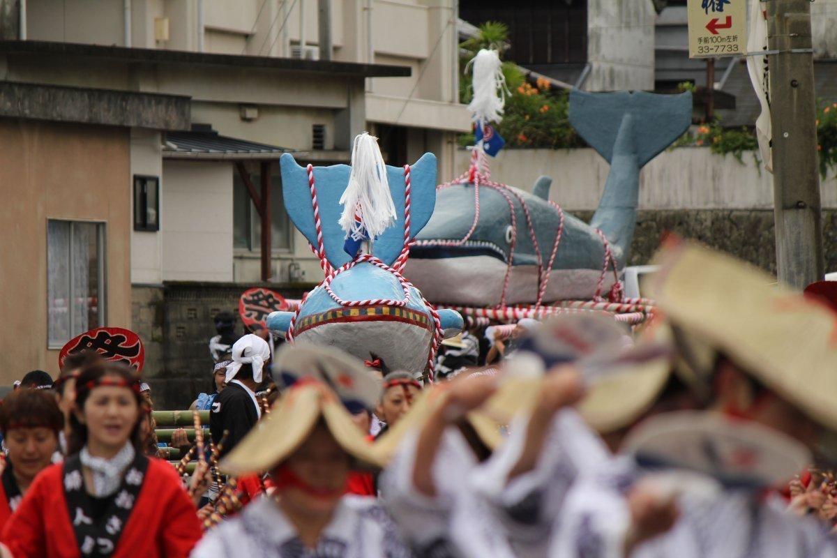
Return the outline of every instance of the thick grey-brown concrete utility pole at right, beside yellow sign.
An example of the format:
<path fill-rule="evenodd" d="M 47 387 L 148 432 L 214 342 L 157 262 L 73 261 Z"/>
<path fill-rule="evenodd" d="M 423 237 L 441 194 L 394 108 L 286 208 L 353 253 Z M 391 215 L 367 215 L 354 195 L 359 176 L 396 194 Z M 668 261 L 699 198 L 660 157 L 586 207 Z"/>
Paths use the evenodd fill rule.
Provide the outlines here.
<path fill-rule="evenodd" d="M 778 279 L 797 289 L 823 278 L 810 0 L 768 10 L 773 207 Z"/>

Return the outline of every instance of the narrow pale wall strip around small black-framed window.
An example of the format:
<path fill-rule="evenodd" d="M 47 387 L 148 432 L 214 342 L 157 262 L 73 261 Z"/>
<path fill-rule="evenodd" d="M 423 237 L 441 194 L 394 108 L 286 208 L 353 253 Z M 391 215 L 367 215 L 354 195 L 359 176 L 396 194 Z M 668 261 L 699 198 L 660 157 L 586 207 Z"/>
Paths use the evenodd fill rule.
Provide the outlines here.
<path fill-rule="evenodd" d="M 160 196 L 162 183 L 161 134 L 158 131 L 131 129 L 131 216 L 133 216 L 133 177 L 146 175 L 159 177 Z M 162 200 L 159 202 L 163 212 Z M 158 217 L 159 219 L 160 217 Z M 131 221 L 131 283 L 162 283 L 162 235 L 160 231 L 135 231 Z"/>

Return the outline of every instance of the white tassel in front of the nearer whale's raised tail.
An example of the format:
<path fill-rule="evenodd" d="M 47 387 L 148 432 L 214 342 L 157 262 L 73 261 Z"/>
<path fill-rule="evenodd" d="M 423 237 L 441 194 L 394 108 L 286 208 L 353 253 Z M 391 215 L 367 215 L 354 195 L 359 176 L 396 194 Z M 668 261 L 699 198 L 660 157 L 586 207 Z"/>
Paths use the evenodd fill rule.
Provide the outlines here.
<path fill-rule="evenodd" d="M 374 240 L 398 218 L 381 148 L 377 137 L 367 132 L 355 136 L 349 186 L 340 202 L 343 212 L 339 223 L 347 237 L 359 238 L 361 229 L 365 228 L 367 238 Z"/>

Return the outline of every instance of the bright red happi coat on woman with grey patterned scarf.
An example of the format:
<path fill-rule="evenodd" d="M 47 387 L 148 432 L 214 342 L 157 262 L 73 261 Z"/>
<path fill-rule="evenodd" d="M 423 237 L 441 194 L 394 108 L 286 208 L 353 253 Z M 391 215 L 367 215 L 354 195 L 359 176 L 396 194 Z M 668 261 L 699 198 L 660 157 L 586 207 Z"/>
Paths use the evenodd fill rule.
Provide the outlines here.
<path fill-rule="evenodd" d="M 44 469 L 6 522 L 0 542 L 16 558 L 79 558 L 64 494 L 63 463 Z M 3 504 L 8 504 L 3 498 Z M 186 558 L 203 535 L 197 510 L 174 468 L 149 458 L 131 515 L 111 558 Z"/>

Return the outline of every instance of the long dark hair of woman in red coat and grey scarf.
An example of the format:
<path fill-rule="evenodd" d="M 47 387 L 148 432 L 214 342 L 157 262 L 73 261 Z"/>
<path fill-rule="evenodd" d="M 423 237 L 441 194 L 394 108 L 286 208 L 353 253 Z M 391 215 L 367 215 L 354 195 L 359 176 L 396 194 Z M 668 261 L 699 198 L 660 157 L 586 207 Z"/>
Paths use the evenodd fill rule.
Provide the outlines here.
<path fill-rule="evenodd" d="M 129 387 L 131 393 L 134 394 L 136 405 L 139 407 L 139 414 L 136 419 L 136 424 L 131 430 L 131 444 L 138 453 L 142 451 L 142 437 L 141 437 L 141 423 L 143 420 L 142 413 L 146 411 L 146 404 L 143 397 L 140 395 L 140 381 L 134 376 L 134 370 L 119 362 L 98 361 L 90 366 L 85 366 L 79 376 L 75 380 L 75 403 L 74 410 L 82 412 L 85 408 L 85 402 L 90 397 L 90 393 L 100 385 L 100 381 L 105 377 L 115 377 L 117 381 L 121 381 L 122 385 Z M 85 447 L 87 443 L 87 427 L 79 422 L 78 417 L 74 412 L 69 415 L 70 433 L 68 439 L 68 454 L 78 453 L 81 448 Z"/>

